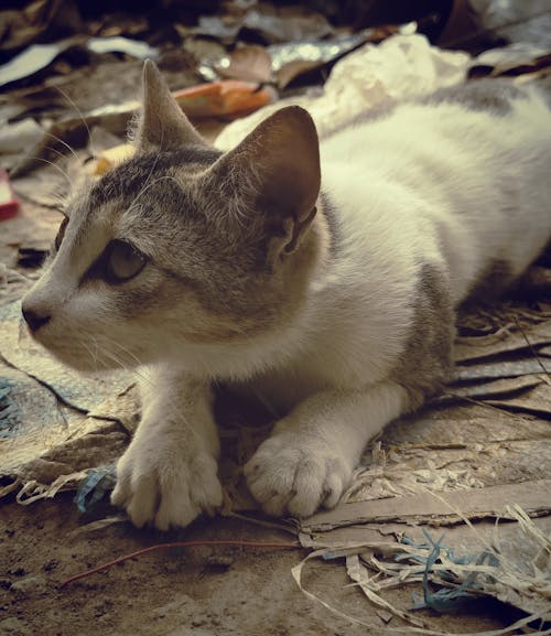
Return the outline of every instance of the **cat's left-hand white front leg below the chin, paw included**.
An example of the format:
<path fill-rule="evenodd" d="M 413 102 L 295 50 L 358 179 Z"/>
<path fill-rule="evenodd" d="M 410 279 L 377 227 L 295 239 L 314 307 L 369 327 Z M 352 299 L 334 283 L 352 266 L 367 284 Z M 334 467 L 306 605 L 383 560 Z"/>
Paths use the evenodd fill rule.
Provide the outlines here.
<path fill-rule="evenodd" d="M 187 526 L 222 505 L 210 388 L 166 367 L 141 381 L 142 419 L 117 465 L 111 502 L 138 527 Z"/>

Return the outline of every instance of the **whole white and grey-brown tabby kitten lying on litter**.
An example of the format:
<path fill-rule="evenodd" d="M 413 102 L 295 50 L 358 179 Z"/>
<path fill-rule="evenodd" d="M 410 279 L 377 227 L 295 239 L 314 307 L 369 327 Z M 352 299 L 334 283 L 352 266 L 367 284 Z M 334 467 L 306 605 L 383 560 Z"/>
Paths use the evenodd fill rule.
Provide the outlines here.
<path fill-rule="evenodd" d="M 140 367 L 111 497 L 138 527 L 222 505 L 214 382 L 282 414 L 245 467 L 263 509 L 335 506 L 367 442 L 449 377 L 456 308 L 551 236 L 533 84 L 442 89 L 321 143 L 291 106 L 222 153 L 147 62 L 134 144 L 74 193 L 22 312 L 76 369 Z"/>

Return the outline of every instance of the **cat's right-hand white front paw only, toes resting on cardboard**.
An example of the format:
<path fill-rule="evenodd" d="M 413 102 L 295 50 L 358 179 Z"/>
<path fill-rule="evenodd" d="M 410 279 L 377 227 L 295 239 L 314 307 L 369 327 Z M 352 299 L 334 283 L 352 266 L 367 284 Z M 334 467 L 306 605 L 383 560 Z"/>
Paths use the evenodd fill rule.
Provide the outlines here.
<path fill-rule="evenodd" d="M 307 517 L 336 506 L 354 466 L 331 444 L 285 431 L 260 444 L 245 466 L 252 496 L 273 516 Z"/>

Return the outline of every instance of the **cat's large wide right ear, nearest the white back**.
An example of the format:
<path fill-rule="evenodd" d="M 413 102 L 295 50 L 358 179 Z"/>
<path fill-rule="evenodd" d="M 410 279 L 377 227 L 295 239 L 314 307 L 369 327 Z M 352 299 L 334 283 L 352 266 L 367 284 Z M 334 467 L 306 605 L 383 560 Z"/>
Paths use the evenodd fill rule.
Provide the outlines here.
<path fill-rule="evenodd" d="M 209 173 L 235 203 L 228 214 L 266 237 L 268 260 L 273 263 L 294 251 L 316 212 L 321 171 L 315 125 L 303 108 L 282 108 L 224 154 Z"/>

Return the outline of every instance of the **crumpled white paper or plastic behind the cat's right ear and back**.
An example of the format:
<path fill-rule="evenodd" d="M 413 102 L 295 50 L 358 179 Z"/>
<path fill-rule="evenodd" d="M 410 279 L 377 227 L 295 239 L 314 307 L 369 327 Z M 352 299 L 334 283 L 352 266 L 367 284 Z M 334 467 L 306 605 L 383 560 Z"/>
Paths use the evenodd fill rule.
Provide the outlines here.
<path fill-rule="evenodd" d="M 284 106 L 306 108 L 321 137 L 367 110 L 431 93 L 466 78 L 471 56 L 431 46 L 424 35 L 397 34 L 380 44 L 366 44 L 335 64 L 321 96 L 281 99 L 234 121 L 215 145 L 229 150 L 260 121 Z"/>

